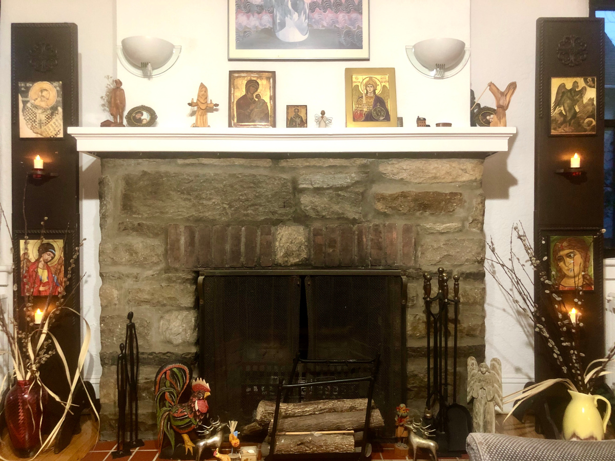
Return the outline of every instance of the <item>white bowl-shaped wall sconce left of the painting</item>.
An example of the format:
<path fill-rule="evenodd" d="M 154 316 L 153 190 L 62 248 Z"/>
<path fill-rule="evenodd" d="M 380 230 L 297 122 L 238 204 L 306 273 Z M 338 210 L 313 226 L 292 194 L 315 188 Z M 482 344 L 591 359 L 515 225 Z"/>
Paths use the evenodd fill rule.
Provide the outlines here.
<path fill-rule="evenodd" d="M 117 57 L 124 68 L 133 75 L 148 79 L 172 68 L 180 53 L 181 46 L 145 35 L 127 37 L 117 47 Z"/>

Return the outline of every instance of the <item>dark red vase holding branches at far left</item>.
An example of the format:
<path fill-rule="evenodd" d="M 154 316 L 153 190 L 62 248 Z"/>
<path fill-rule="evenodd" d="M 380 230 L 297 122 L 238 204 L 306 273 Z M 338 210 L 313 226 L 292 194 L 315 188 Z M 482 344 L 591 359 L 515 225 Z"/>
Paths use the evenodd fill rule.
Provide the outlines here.
<path fill-rule="evenodd" d="M 47 391 L 33 379 L 17 381 L 6 395 L 4 414 L 9 428 L 10 441 L 15 454 L 30 457 L 41 444 L 41 396 L 47 400 Z"/>

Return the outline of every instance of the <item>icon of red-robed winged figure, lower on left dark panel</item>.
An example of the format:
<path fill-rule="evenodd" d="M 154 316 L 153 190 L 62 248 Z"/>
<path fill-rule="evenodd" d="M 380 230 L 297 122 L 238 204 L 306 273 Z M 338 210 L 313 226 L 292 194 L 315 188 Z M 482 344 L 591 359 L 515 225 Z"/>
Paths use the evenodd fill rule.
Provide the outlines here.
<path fill-rule="evenodd" d="M 58 256 L 54 244 L 50 242 L 39 245 L 38 258 L 35 261 L 30 261 L 27 254 L 22 254 L 22 295 L 57 296 L 62 293 L 63 261 L 62 254 Z"/>

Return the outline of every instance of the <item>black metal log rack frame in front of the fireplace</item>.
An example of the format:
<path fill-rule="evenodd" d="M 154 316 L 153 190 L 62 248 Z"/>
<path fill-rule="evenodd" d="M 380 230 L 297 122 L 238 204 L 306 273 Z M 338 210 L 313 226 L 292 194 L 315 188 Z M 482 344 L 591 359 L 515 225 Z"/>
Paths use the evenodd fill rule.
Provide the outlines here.
<path fill-rule="evenodd" d="M 300 364 L 308 365 L 308 364 L 316 364 L 316 365 L 324 365 L 324 366 L 357 366 L 358 364 L 363 364 L 365 366 L 370 367 L 370 374 L 367 376 L 360 377 L 351 377 L 347 379 L 326 379 L 326 380 L 314 380 L 309 382 L 301 382 L 301 376 L 298 376 L 297 369 Z M 378 370 L 380 368 L 380 354 L 376 354 L 376 357 L 372 360 L 306 360 L 300 358 L 299 355 L 295 357 L 293 361 L 293 369 L 290 373 L 290 377 L 288 379 L 288 384 L 284 384 L 284 381 L 280 379 L 277 388 L 277 398 L 276 398 L 276 410 L 274 412 L 274 417 L 271 426 L 271 446 L 269 447 L 269 454 L 264 457 L 265 461 L 317 461 L 317 460 L 368 460 L 371 456 L 371 446 L 367 443 L 368 434 L 370 431 L 370 418 L 371 418 L 371 401 L 374 394 L 374 387 L 376 385 L 376 377 L 378 376 Z M 293 381 L 296 381 L 293 384 Z M 306 391 L 309 391 L 310 388 L 314 391 L 315 394 L 319 395 L 319 390 L 314 390 L 314 388 L 321 388 L 323 393 L 327 393 L 328 389 L 331 388 L 341 388 L 352 385 L 360 385 L 360 383 L 367 384 L 367 408 L 365 409 L 365 425 L 362 428 L 362 438 L 360 441 L 357 441 L 357 448 L 354 452 L 347 453 L 294 453 L 294 454 L 276 454 L 276 436 L 280 435 L 278 432 L 278 427 L 280 424 L 280 420 L 282 419 L 282 415 L 280 414 L 280 403 L 282 401 L 287 402 L 289 393 L 296 391 L 298 392 L 298 398 L 301 401 L 302 396 Z M 335 432 L 335 431 L 334 431 Z M 345 432 L 345 431 L 343 431 Z M 300 434 L 300 433 L 293 433 Z"/>

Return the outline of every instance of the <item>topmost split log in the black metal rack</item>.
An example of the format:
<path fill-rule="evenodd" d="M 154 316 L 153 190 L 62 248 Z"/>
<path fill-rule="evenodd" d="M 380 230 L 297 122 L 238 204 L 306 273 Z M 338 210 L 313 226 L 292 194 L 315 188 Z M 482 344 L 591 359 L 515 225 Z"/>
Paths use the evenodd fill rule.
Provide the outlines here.
<path fill-rule="evenodd" d="M 311 414 L 365 411 L 367 398 L 346 398 L 338 400 L 315 400 L 300 403 L 280 403 L 280 416 L 308 416 Z M 371 408 L 376 405 L 371 401 Z M 273 420 L 276 402 L 261 400 L 256 408 L 256 422 L 266 425 Z"/>

